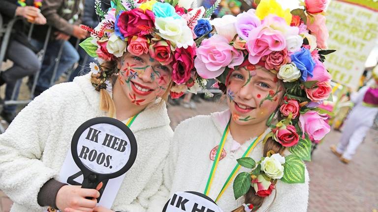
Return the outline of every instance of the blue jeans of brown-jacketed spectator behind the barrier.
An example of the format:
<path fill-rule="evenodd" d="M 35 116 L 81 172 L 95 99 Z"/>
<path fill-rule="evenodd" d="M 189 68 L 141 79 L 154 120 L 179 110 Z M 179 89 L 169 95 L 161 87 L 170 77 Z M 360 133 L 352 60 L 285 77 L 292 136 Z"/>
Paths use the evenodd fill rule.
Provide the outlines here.
<path fill-rule="evenodd" d="M 40 49 L 42 49 L 43 47 L 43 42 L 41 41 L 33 40 L 33 44 L 35 44 L 35 46 Z M 57 62 L 56 59 L 61 48 L 62 56 L 57 67 L 57 72 L 53 83 L 51 83 Z M 57 81 L 65 71 L 70 69 L 73 64 L 79 61 L 79 59 L 79 53 L 77 53 L 76 49 L 68 41 L 49 41 L 45 53 L 45 58 L 42 62 L 42 68 L 38 76 L 37 85 L 35 87 L 34 96 L 39 95 L 49 87 L 53 86 L 54 82 Z"/>

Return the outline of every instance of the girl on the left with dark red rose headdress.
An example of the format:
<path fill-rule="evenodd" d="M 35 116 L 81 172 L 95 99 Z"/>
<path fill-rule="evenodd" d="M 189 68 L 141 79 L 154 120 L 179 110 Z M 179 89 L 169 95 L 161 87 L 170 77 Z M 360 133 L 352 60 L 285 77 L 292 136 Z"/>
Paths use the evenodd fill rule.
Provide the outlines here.
<path fill-rule="evenodd" d="M 152 196 L 173 135 L 164 100 L 173 88 L 194 85 L 194 28 L 204 14 L 182 7 L 187 0 L 174 2 L 112 0 L 104 12 L 96 1 L 102 21 L 83 27 L 91 37 L 81 47 L 98 63 L 35 98 L 0 135 L 0 189 L 14 201 L 12 212 L 109 211 L 95 208 L 97 190 L 56 180 L 76 129 L 99 116 L 132 121 L 138 144 L 112 210 L 156 212 Z"/>

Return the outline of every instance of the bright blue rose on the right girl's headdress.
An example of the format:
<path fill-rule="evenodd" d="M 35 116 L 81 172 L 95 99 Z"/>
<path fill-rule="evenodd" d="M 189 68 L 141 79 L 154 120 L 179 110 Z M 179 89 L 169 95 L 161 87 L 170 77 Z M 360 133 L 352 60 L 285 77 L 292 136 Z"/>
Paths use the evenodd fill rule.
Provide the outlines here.
<path fill-rule="evenodd" d="M 315 62 L 308 49 L 302 47 L 301 51 L 291 54 L 291 62 L 301 71 L 302 81 L 306 81 L 308 76 L 313 77 Z"/>

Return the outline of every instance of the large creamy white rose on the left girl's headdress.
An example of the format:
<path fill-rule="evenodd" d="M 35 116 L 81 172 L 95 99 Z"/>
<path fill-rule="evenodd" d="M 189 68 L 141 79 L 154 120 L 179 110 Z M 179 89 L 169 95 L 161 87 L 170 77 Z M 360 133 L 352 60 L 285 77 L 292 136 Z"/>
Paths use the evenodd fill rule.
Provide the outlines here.
<path fill-rule="evenodd" d="M 159 30 L 158 35 L 177 48 L 187 49 L 194 44 L 191 29 L 184 19 L 155 18 L 155 27 Z"/>

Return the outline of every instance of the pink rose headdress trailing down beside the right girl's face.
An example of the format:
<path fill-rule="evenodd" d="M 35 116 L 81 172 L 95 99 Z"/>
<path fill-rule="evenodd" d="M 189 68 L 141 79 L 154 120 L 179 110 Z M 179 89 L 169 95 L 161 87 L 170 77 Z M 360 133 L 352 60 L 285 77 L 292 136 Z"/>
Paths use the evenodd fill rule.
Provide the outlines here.
<path fill-rule="evenodd" d="M 324 55 L 334 52 L 324 50 L 328 38 L 322 13 L 326 0 L 305 0 L 304 6 L 290 11 L 275 0 L 261 0 L 256 9 L 213 20 L 216 33 L 203 40 L 197 50 L 194 66 L 198 75 L 217 79 L 223 92 L 230 73 L 238 67 L 265 67 L 284 84 L 284 104 L 268 119 L 272 132 L 264 142 L 272 138 L 287 147 L 291 155 L 283 157 L 269 151 L 258 162 L 252 158 L 238 159 L 251 172 L 236 177 L 236 199 L 251 186 L 256 195 L 266 197 L 277 180 L 304 183 L 303 160 L 311 159 L 311 141 L 319 141 L 330 131 L 325 116 L 320 114 L 325 111 L 317 108 L 331 97 L 332 91 L 331 76 L 323 65 Z M 273 100 L 277 93 L 270 91 L 267 98 Z M 272 124 L 274 117 L 277 124 Z"/>

